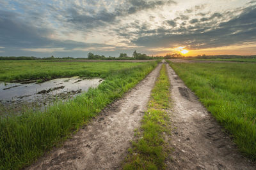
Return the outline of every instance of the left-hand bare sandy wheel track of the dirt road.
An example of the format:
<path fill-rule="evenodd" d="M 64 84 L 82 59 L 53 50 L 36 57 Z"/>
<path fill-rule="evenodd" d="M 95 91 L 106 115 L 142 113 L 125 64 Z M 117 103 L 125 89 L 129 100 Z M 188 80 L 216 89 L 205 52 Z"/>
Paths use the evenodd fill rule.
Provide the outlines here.
<path fill-rule="evenodd" d="M 118 169 L 147 108 L 161 64 L 122 99 L 27 169 Z"/>

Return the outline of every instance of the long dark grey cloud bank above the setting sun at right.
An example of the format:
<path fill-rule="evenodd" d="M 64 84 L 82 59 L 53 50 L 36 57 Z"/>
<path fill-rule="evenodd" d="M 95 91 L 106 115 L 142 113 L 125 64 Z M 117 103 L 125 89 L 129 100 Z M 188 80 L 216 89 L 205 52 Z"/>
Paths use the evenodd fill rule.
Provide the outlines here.
<path fill-rule="evenodd" d="M 218 20 L 223 17 L 219 13 L 211 15 L 211 20 Z M 212 48 L 225 45 L 234 45 L 236 43 L 253 42 L 256 39 L 256 6 L 245 8 L 243 12 L 229 20 L 222 22 L 216 29 L 211 29 L 211 25 L 200 23 L 199 20 L 191 20 L 197 23 L 195 26 L 180 27 L 175 31 L 182 34 L 174 34 L 175 31 L 165 29 L 163 34 L 154 34 L 152 36 L 141 36 L 132 41 L 136 45 L 145 45 L 150 47 L 167 47 L 172 45 L 190 46 L 191 49 Z"/>

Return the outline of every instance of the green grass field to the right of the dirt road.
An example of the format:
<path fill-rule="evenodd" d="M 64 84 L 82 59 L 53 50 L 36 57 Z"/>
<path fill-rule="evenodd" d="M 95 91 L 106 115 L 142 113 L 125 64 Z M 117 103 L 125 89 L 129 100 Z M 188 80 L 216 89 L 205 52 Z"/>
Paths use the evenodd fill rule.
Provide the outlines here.
<path fill-rule="evenodd" d="M 255 64 L 173 63 L 175 72 L 230 132 L 241 152 L 256 159 Z"/>

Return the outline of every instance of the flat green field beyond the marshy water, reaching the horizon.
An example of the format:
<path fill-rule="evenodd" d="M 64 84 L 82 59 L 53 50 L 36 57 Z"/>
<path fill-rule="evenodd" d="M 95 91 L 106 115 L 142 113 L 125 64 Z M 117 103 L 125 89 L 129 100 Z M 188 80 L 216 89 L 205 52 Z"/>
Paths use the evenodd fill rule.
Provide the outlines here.
<path fill-rule="evenodd" d="M 0 81 L 52 79 L 68 76 L 105 78 L 109 73 L 145 62 L 58 62 L 52 60 L 1 60 Z"/>

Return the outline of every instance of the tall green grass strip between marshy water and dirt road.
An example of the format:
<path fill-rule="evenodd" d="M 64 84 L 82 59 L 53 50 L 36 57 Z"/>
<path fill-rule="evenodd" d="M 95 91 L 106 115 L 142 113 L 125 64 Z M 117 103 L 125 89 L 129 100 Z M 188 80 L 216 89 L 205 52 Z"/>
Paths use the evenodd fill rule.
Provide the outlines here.
<path fill-rule="evenodd" d="M 97 89 L 89 89 L 72 101 L 56 103 L 44 113 L 28 112 L 19 117 L 1 117 L 0 169 L 28 166 L 143 80 L 156 66 L 157 62 L 148 62 L 111 73 Z"/>

